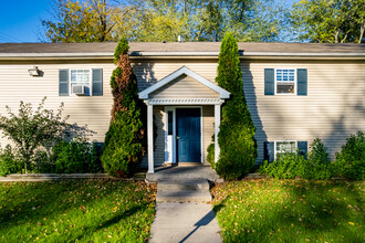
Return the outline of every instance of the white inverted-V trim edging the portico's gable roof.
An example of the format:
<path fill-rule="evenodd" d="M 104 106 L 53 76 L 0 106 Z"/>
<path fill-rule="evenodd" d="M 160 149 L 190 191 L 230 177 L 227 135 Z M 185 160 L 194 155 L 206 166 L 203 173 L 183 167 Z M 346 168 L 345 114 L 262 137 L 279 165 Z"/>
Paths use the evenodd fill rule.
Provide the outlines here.
<path fill-rule="evenodd" d="M 157 89 L 168 85 L 169 83 L 174 82 L 176 78 L 178 78 L 181 75 L 187 75 L 192 77 L 195 81 L 199 82 L 200 84 L 202 84 L 204 86 L 215 91 L 216 93 L 218 93 L 219 98 L 229 98 L 230 93 L 221 87 L 219 87 L 218 85 L 211 83 L 210 81 L 208 81 L 207 78 L 200 76 L 199 74 L 192 72 L 191 70 L 189 70 L 186 66 L 181 66 L 180 68 L 178 68 L 177 71 L 175 71 L 174 73 L 167 75 L 166 77 L 164 77 L 163 80 L 160 80 L 159 82 L 157 82 L 156 84 L 152 85 L 150 87 L 144 89 L 143 92 L 138 93 L 139 98 L 142 99 L 148 99 L 149 95 L 154 92 L 156 92 Z"/>

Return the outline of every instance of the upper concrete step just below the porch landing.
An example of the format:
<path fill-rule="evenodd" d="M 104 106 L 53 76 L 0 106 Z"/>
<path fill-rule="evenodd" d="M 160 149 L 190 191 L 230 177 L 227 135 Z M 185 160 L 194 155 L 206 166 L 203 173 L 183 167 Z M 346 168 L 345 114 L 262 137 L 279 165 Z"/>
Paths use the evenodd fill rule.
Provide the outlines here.
<path fill-rule="evenodd" d="M 209 183 L 206 179 L 190 179 L 190 180 L 163 180 L 157 183 L 158 191 L 166 190 L 207 190 L 209 191 Z"/>

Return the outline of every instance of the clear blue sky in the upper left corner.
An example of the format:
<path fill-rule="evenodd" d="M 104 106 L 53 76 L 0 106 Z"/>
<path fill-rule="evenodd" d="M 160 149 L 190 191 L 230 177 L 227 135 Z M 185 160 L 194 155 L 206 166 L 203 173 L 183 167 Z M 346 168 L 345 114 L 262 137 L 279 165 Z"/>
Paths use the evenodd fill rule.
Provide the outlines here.
<path fill-rule="evenodd" d="M 49 19 L 52 0 L 7 0 L 1 2 L 0 43 L 38 42 L 41 19 Z"/>

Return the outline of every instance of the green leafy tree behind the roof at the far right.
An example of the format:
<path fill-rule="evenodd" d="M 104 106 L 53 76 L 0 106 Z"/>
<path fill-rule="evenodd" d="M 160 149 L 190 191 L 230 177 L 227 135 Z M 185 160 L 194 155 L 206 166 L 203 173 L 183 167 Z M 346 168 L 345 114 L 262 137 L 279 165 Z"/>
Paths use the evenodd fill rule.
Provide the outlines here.
<path fill-rule="evenodd" d="M 364 17 L 364 0 L 301 0 L 293 6 L 291 21 L 300 40 L 361 43 Z"/>

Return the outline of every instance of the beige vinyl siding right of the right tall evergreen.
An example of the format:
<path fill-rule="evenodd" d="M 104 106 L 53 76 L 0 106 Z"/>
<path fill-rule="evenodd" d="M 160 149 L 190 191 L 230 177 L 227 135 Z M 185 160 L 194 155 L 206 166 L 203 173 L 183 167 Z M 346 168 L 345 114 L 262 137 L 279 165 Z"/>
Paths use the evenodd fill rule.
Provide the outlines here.
<path fill-rule="evenodd" d="M 307 95 L 265 96 L 264 68 L 307 68 Z M 246 61 L 243 86 L 257 127 L 258 161 L 263 141 L 321 138 L 332 159 L 351 134 L 365 130 L 365 63 L 361 61 Z M 296 88 L 296 87 L 295 87 Z"/>

